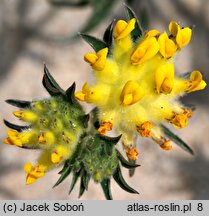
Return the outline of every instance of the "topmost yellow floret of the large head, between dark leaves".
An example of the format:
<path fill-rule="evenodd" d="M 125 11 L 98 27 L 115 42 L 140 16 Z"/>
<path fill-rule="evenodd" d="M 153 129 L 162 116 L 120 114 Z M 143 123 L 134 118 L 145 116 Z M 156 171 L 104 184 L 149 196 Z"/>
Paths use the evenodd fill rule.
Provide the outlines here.
<path fill-rule="evenodd" d="M 129 36 L 129 34 L 134 29 L 135 23 L 135 18 L 131 19 L 128 23 L 124 20 L 118 20 L 114 28 L 114 37 L 117 40 L 120 40 L 122 38 Z"/>

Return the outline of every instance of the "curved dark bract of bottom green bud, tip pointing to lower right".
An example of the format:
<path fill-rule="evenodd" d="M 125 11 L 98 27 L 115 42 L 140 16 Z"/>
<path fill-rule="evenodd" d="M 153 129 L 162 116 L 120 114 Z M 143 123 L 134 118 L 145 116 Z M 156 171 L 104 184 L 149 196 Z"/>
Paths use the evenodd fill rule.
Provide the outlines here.
<path fill-rule="evenodd" d="M 113 178 L 115 179 L 115 181 L 118 183 L 118 185 L 125 191 L 129 192 L 129 193 L 136 193 L 139 194 L 136 190 L 134 190 L 132 187 L 130 187 L 126 181 L 124 180 L 120 167 L 118 166 L 116 171 L 113 174 Z"/>

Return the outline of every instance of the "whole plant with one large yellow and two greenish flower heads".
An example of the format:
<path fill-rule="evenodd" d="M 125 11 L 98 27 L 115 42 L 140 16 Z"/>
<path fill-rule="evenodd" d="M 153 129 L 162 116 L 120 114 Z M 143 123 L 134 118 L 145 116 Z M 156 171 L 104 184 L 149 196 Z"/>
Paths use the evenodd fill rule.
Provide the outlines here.
<path fill-rule="evenodd" d="M 129 193 L 138 193 L 124 180 L 121 166 L 133 174 L 138 152 L 136 137 L 151 137 L 162 149 L 172 148 L 171 140 L 193 154 L 192 149 L 163 123 L 183 128 L 193 109 L 178 101 L 184 94 L 204 89 L 199 71 L 177 76 L 174 59 L 191 39 L 192 29 L 172 21 L 169 35 L 150 30 L 143 32 L 134 12 L 126 7 L 128 21 L 112 22 L 103 40 L 81 34 L 95 50 L 84 56 L 95 75 L 92 86 L 75 84 L 64 91 L 44 67 L 43 85 L 51 95 L 32 102 L 7 100 L 20 110 L 13 114 L 27 126 L 4 121 L 10 128 L 5 144 L 40 149 L 35 165 L 26 163 L 26 184 L 34 183 L 49 170 L 63 165 L 55 186 L 73 174 L 71 192 L 80 178 L 81 196 L 91 178 L 100 183 L 107 199 L 112 199 L 110 180 Z M 77 99 L 93 103 L 85 114 Z M 117 137 L 106 136 L 114 130 Z M 117 150 L 122 141 L 128 160 Z"/>

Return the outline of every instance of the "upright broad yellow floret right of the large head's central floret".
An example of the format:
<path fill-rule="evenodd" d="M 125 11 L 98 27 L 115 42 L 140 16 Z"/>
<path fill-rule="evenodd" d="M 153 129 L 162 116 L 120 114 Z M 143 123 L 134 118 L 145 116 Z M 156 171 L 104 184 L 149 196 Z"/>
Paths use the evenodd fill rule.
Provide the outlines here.
<path fill-rule="evenodd" d="M 157 93 L 169 94 L 174 85 L 174 65 L 161 65 L 155 73 L 155 83 Z"/>

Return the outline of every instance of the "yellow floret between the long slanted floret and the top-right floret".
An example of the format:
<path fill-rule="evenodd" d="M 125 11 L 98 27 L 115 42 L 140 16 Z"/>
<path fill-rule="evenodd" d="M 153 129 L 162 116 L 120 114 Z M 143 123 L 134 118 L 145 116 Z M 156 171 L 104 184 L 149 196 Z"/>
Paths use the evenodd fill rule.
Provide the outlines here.
<path fill-rule="evenodd" d="M 160 46 L 160 54 L 164 58 L 170 58 L 174 56 L 177 47 L 176 44 L 171 39 L 168 38 L 166 32 L 160 35 L 160 37 L 158 38 L 158 43 Z"/>

